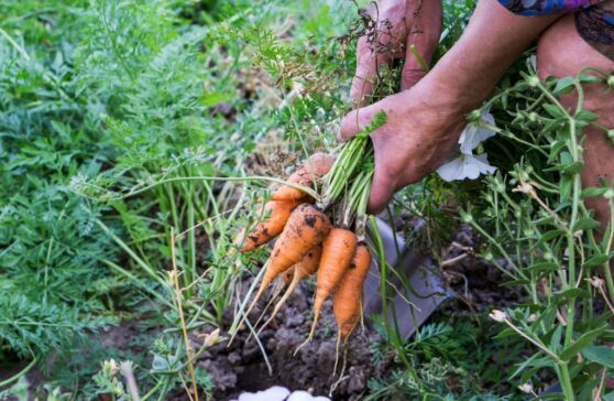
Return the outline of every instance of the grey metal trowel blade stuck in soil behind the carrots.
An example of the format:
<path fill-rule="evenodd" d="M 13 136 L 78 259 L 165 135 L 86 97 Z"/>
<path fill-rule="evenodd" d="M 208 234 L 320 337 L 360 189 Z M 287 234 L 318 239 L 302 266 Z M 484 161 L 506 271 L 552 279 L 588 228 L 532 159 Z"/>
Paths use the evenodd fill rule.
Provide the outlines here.
<path fill-rule="evenodd" d="M 404 239 L 393 231 L 381 218 L 376 218 L 377 230 L 382 237 L 384 256 L 390 267 L 404 278 L 405 283 L 395 274 L 386 274 L 388 285 L 388 317 L 391 324 L 396 315 L 396 329 L 404 338 L 409 338 L 418 327 L 451 295 L 443 288 L 439 271 L 432 260 L 406 245 Z M 375 259 L 375 258 L 374 258 Z M 383 303 L 381 295 L 381 274 L 377 261 L 372 261 L 371 270 L 364 283 L 365 316 L 381 315 Z M 393 315 L 392 308 L 395 314 Z"/>

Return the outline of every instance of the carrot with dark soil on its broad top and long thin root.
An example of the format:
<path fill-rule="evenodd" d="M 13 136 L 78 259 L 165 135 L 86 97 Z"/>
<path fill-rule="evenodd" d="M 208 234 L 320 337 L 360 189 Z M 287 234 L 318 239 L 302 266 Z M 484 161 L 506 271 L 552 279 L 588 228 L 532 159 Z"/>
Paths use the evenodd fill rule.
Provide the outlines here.
<path fill-rule="evenodd" d="M 262 283 L 239 326 L 245 321 L 264 290 L 275 278 L 298 263 L 310 249 L 324 242 L 330 231 L 328 217 L 309 204 L 298 206 L 288 218 L 279 239 L 275 242 Z M 235 332 L 237 333 L 237 332 Z M 230 339 L 234 338 L 234 335 Z"/>

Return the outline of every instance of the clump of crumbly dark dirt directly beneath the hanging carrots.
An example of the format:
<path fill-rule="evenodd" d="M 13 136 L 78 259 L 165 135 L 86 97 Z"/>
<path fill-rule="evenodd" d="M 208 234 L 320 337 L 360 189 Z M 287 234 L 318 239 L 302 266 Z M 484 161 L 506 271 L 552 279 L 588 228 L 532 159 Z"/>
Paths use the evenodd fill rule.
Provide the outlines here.
<path fill-rule="evenodd" d="M 215 400 L 232 400 L 243 391 L 253 392 L 272 386 L 308 390 L 317 395 L 329 394 L 332 386 L 339 381 L 338 375 L 343 364 L 343 350 L 340 349 L 338 375 L 333 375 L 337 326 L 330 301 L 325 304 L 314 340 L 294 355 L 310 329 L 311 293 L 307 285 L 301 284 L 272 325 L 259 335 L 272 373 L 268 372 L 254 338 L 248 340 L 250 332 L 245 327 L 239 332 L 230 347 L 228 342 L 218 344 L 198 360 L 197 365 L 213 378 Z M 251 322 L 260 316 L 265 301 L 261 304 L 250 315 Z M 268 315 L 265 314 L 264 317 L 267 318 Z M 370 378 L 382 377 L 390 371 L 394 360 L 392 355 L 382 364 L 373 362 L 375 350 L 370 345 L 379 339 L 379 335 L 369 327 L 359 327 L 351 336 L 346 371 L 332 393 L 335 400 L 360 400 L 366 391 Z"/>

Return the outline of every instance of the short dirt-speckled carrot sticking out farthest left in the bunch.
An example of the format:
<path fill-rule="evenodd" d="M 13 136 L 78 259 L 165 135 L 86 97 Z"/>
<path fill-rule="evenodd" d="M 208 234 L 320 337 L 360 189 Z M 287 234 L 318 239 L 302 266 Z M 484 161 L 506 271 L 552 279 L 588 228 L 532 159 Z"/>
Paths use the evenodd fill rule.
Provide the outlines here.
<path fill-rule="evenodd" d="M 284 230 L 292 212 L 298 205 L 298 202 L 295 201 L 268 201 L 264 205 L 263 216 L 266 216 L 264 220 L 252 228 L 246 236 L 244 235 L 245 230 L 241 230 L 237 236 L 235 243 L 238 246 L 243 245 L 240 251 L 251 251 L 277 237 Z"/>

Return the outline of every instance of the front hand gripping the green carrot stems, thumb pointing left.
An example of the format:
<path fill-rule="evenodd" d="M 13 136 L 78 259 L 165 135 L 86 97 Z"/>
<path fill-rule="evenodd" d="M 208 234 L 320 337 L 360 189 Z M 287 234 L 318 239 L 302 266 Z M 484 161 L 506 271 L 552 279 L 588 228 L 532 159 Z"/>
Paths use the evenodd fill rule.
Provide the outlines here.
<path fill-rule="evenodd" d="M 339 139 L 347 141 L 363 130 L 380 110 L 387 122 L 371 134 L 375 171 L 369 212 L 381 212 L 393 194 L 442 164 L 465 124 L 456 97 L 427 75 L 412 89 L 354 110 L 341 122 Z"/>

